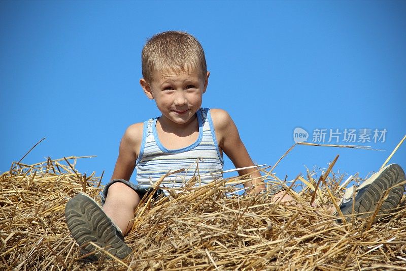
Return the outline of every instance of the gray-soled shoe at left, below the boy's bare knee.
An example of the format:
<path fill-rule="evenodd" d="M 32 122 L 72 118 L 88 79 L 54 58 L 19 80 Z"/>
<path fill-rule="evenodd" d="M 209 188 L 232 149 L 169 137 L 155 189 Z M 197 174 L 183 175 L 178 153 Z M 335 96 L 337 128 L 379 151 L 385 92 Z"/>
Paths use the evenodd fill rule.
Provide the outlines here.
<path fill-rule="evenodd" d="M 97 250 L 89 244 L 93 242 L 120 259 L 131 253 L 131 249 L 124 243 L 121 230 L 91 197 L 79 194 L 69 200 L 65 206 L 65 218 L 73 238 L 84 252 Z M 101 255 L 101 252 L 94 253 L 90 259 L 96 260 Z"/>

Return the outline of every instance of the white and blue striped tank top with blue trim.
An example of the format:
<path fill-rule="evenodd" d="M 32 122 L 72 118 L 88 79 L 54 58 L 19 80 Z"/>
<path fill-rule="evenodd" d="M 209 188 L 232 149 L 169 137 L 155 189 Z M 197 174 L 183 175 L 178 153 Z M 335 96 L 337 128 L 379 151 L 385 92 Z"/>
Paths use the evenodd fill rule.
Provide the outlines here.
<path fill-rule="evenodd" d="M 161 186 L 182 187 L 196 176 L 196 185 L 204 185 L 221 178 L 224 161 L 220 155 L 214 132 L 213 121 L 208 108 L 196 112 L 199 135 L 196 142 L 180 149 L 166 149 L 159 141 L 156 131 L 158 118 L 144 123 L 140 155 L 136 161 L 137 182 L 150 187 L 168 172 L 184 169 L 167 176 Z"/>

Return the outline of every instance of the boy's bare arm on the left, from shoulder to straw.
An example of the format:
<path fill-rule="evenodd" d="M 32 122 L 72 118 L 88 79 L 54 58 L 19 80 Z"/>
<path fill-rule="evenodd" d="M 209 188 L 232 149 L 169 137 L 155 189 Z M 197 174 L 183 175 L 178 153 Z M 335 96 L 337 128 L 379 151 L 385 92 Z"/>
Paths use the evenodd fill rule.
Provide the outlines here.
<path fill-rule="evenodd" d="M 142 134 L 143 123 L 133 124 L 127 128 L 120 142 L 118 158 L 111 179 L 130 179 L 136 167 Z"/>

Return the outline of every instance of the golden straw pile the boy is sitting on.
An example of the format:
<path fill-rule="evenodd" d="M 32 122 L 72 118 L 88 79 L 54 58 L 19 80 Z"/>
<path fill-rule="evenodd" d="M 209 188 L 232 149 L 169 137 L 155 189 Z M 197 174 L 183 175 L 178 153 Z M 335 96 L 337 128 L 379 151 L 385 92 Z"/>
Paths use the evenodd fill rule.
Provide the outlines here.
<path fill-rule="evenodd" d="M 75 163 L 74 157 L 36 165 L 14 163 L 0 176 L 4 269 L 406 269 L 406 210 L 400 208 L 381 223 L 354 219 L 337 224 L 327 207 L 343 194 L 343 176 L 329 174 L 327 187 L 322 185 L 315 195 L 320 206 L 311 207 L 317 179 L 309 172 L 307 179 L 300 177 L 307 184 L 304 190 L 289 192 L 296 198 L 290 205 L 264 195 L 226 195 L 245 182 L 238 178 L 158 201 L 145 198 L 125 237 L 133 249 L 131 257 L 86 263 L 67 229 L 64 206 L 78 192 L 99 200 L 101 179 L 77 172 Z M 264 174 L 269 184 L 280 181 Z"/>

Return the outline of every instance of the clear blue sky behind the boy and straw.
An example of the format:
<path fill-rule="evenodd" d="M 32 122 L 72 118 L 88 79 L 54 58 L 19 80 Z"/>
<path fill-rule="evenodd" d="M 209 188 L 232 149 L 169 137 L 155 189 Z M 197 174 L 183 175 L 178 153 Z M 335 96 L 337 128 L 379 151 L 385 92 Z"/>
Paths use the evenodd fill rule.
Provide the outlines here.
<path fill-rule="evenodd" d="M 275 170 L 292 179 L 339 154 L 333 171 L 364 177 L 406 134 L 404 14 L 401 1 L 2 1 L 0 171 L 46 137 L 24 163 L 95 155 L 77 168 L 106 182 L 126 127 L 159 115 L 139 85 L 145 40 L 176 29 L 205 49 L 203 105 L 230 113 L 255 162 L 275 164 L 296 127 L 309 142 L 327 129 L 324 143 L 329 129 L 386 129 L 338 142 L 384 152 L 296 146 Z M 405 158 L 406 144 L 392 162 Z"/>

